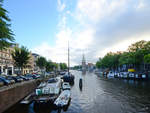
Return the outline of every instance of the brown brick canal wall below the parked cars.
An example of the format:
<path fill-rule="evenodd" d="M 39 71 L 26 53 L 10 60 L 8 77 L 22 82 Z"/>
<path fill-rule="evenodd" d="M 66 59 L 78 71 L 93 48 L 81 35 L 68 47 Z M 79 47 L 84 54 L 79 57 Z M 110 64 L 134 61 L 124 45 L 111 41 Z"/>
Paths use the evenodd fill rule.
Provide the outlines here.
<path fill-rule="evenodd" d="M 40 80 L 26 81 L 0 89 L 0 113 L 30 94 L 39 85 Z"/>

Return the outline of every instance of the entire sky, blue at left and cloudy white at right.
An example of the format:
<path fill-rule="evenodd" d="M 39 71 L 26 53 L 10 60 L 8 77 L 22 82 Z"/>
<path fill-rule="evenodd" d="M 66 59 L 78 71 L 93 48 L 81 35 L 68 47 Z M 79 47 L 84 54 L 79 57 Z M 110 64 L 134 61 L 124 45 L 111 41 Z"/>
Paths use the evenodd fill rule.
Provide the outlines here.
<path fill-rule="evenodd" d="M 4 0 L 16 42 L 48 60 L 95 63 L 150 40 L 150 0 Z"/>

